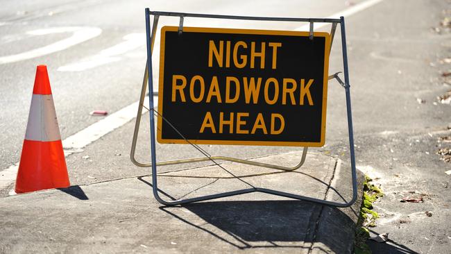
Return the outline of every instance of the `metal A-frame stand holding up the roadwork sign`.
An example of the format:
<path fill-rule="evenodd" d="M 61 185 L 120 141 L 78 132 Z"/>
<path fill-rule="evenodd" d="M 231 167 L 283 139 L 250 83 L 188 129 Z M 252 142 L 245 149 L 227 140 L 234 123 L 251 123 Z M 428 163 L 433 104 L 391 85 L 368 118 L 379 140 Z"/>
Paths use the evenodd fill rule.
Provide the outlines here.
<path fill-rule="evenodd" d="M 153 25 L 151 26 L 151 15 L 153 15 Z M 183 29 L 183 19 L 184 17 L 198 17 L 198 18 L 214 18 L 214 19 L 243 19 L 243 20 L 258 20 L 258 21 L 274 21 L 274 22 L 309 22 L 309 37 L 310 39 L 313 38 L 313 30 L 314 30 L 314 23 L 315 22 L 321 22 L 321 23 L 331 23 L 332 24 L 332 30 L 330 33 L 330 46 L 332 47 L 332 41 L 334 40 L 334 33 L 337 28 L 337 24 L 340 24 L 341 28 L 341 44 L 342 44 L 342 53 L 343 53 L 343 74 L 344 74 L 344 83 L 341 81 L 341 79 L 337 74 L 329 76 L 329 79 L 336 78 L 337 81 L 344 87 L 345 93 L 346 93 L 346 111 L 348 116 L 348 134 L 349 134 L 349 146 L 350 146 L 350 162 L 351 162 L 351 173 L 352 173 L 352 199 L 346 203 L 338 203 L 334 201 L 326 201 L 318 198 L 312 198 L 309 196 L 300 196 L 297 194 L 292 194 L 288 192 L 280 192 L 274 189 L 266 189 L 266 188 L 260 188 L 260 187 L 252 187 L 248 189 L 239 189 L 232 192 L 223 192 L 219 194 L 211 194 L 207 196 L 198 196 L 195 198 L 186 198 L 186 199 L 180 199 L 175 201 L 164 201 L 161 197 L 158 189 L 158 177 L 157 177 L 157 166 L 164 166 L 164 165 L 171 165 L 171 164 L 183 164 L 183 163 L 192 163 L 192 162 L 203 162 L 203 161 L 212 161 L 214 164 L 219 165 L 216 163 L 215 160 L 224 160 L 224 161 L 230 161 L 230 162 L 238 162 L 242 164 L 250 164 L 255 165 L 259 167 L 268 167 L 271 169 L 279 169 L 282 171 L 293 171 L 298 168 L 300 168 L 303 163 L 305 162 L 305 157 L 307 155 L 307 146 L 303 149 L 303 155 L 301 156 L 300 162 L 296 164 L 293 167 L 283 167 L 280 165 L 274 165 L 274 164 L 266 164 L 266 163 L 260 163 L 260 162 L 253 162 L 250 160 L 243 160 L 239 158 L 230 158 L 226 156 L 211 156 L 207 153 L 204 153 L 204 158 L 189 158 L 189 159 L 183 159 L 183 160 L 171 160 L 171 161 L 165 161 L 165 162 L 157 162 L 156 161 L 156 146 L 155 146 L 155 115 L 158 114 L 158 112 L 154 108 L 154 102 L 153 102 L 153 73 L 152 73 L 152 51 L 153 51 L 153 43 L 155 41 L 155 33 L 157 31 L 158 27 L 158 19 L 160 16 L 171 16 L 171 17 L 180 17 L 180 24 L 178 28 L 178 32 L 182 33 Z M 151 29 L 152 28 L 152 29 Z M 340 208 L 346 208 L 355 203 L 357 200 L 357 172 L 355 169 L 355 151 L 354 151 L 354 136 L 353 136 L 353 130 L 352 130 L 352 112 L 351 112 L 351 101 L 350 101 L 350 85 L 349 85 L 349 72 L 348 72 L 348 56 L 346 51 L 346 33 L 345 33 L 345 21 L 344 17 L 340 17 L 340 19 L 321 19 L 321 18 L 291 18 L 291 17 L 244 17 L 244 16 L 230 16 L 230 15 L 206 15 L 206 14 L 195 14 L 195 13 L 181 13 L 181 12 L 158 12 L 158 11 L 150 11 L 148 8 L 146 8 L 146 40 L 147 40 L 147 62 L 146 62 L 146 70 L 144 72 L 144 80 L 142 83 L 142 90 L 141 90 L 141 96 L 139 99 L 139 107 L 137 112 L 137 118 L 135 123 L 135 132 L 133 134 L 133 142 L 132 142 L 132 148 L 130 152 L 130 159 L 132 160 L 133 164 L 137 165 L 138 167 L 152 167 L 152 185 L 153 185 L 153 195 L 157 199 L 158 202 L 162 203 L 163 205 L 181 205 L 185 203 L 192 203 L 197 201 L 205 201 L 210 200 L 214 198 L 223 198 L 226 196 L 235 196 L 239 194 L 246 194 L 250 192 L 262 192 L 266 194 L 273 194 L 276 196 L 284 196 L 287 198 L 293 198 L 297 200 L 303 200 L 303 201 L 310 201 L 314 203 L 320 203 L 323 205 L 330 205 L 334 207 L 340 207 Z M 142 110 L 145 108 L 144 106 L 144 99 L 146 96 L 146 90 L 147 90 L 147 84 L 149 87 L 149 93 L 148 93 L 148 101 L 149 101 L 149 110 L 152 111 L 150 115 L 150 128 L 151 128 L 151 163 L 142 163 L 137 162 L 135 159 L 135 149 L 137 144 L 137 135 L 139 133 L 139 124 L 141 122 L 141 115 Z M 158 115 L 158 117 L 163 117 Z M 164 117 L 163 117 L 164 119 Z M 167 121 L 167 119 L 164 119 Z M 176 130 L 178 131 L 178 130 Z M 179 133 L 181 135 L 181 133 Z M 181 135 L 182 136 L 182 135 Z M 187 141 L 188 144 L 191 144 Z M 194 144 L 192 144 L 194 145 Z M 198 148 L 198 146 L 194 145 L 196 149 L 201 151 L 201 149 Z M 201 151 L 202 152 L 202 151 Z"/>

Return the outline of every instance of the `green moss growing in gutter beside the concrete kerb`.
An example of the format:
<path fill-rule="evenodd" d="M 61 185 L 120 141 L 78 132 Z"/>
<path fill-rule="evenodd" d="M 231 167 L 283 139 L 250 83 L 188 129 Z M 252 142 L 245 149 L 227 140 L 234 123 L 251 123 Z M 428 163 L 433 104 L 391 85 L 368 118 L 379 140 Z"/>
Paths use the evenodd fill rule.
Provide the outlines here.
<path fill-rule="evenodd" d="M 373 211 L 373 203 L 377 201 L 377 198 L 384 196 L 380 187 L 373 185 L 372 181 L 371 178 L 365 176 L 363 202 L 361 203 L 360 217 L 357 222 L 357 232 L 355 233 L 355 254 L 371 254 L 371 249 L 366 244 L 366 240 L 370 237 L 367 227 L 376 226 L 375 220 L 379 218 L 379 214 Z"/>

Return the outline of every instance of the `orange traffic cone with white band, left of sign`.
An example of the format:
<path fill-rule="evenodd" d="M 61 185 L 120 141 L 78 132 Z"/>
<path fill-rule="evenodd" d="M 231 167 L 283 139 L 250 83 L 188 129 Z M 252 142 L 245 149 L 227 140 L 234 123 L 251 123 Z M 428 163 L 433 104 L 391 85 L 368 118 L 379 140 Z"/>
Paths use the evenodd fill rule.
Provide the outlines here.
<path fill-rule="evenodd" d="M 45 65 L 37 66 L 16 193 L 69 187 L 65 154 Z"/>

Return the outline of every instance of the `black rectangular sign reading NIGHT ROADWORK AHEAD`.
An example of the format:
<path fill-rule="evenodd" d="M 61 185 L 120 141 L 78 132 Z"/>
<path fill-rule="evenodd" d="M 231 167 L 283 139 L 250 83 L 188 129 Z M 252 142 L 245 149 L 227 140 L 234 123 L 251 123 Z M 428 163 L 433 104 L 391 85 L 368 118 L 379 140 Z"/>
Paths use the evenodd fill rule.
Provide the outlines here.
<path fill-rule="evenodd" d="M 160 143 L 323 146 L 330 35 L 164 26 Z"/>

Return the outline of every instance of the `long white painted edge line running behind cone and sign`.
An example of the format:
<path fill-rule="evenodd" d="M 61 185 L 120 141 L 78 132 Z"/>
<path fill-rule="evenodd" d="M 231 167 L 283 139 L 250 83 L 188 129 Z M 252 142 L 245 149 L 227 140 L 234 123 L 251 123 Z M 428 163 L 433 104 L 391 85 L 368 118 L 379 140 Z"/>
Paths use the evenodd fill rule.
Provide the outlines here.
<path fill-rule="evenodd" d="M 330 17 L 339 17 L 339 16 L 350 16 L 352 14 L 355 14 L 361 10 L 365 10 L 366 8 L 369 8 L 376 3 L 381 2 L 382 0 L 368 0 L 364 3 L 359 3 L 356 6 L 352 6 L 351 8 L 344 10 L 342 12 L 337 12 L 334 15 L 331 15 Z M 324 24 L 318 24 L 324 26 Z M 309 25 L 307 26 L 301 26 L 300 28 L 294 29 L 294 30 L 305 30 L 305 28 L 308 29 Z M 316 26 L 315 26 L 316 28 Z M 155 51 L 158 52 L 158 51 Z M 0 58 L 1 59 L 1 58 Z M 155 96 L 154 97 L 154 103 L 155 108 L 158 106 L 158 99 Z M 62 140 L 63 147 L 65 148 L 65 156 L 68 156 L 76 149 L 82 149 L 83 147 L 87 146 L 88 144 L 91 144 L 92 142 L 96 141 L 97 139 L 101 138 L 103 135 L 106 135 L 107 133 L 110 133 L 112 130 L 119 128 L 126 124 L 131 119 L 135 118 L 136 112 L 137 112 L 137 106 L 139 101 L 132 103 L 126 108 L 123 108 L 117 112 L 114 112 L 113 114 L 109 115 L 108 117 L 105 117 L 104 119 L 101 119 L 100 121 L 92 124 L 91 126 L 88 126 L 84 130 L 80 130 L 80 132 L 67 137 L 67 139 Z M 144 105 L 148 105 L 148 100 L 144 102 Z M 8 187 L 14 180 L 15 176 L 17 174 L 18 169 L 18 163 L 10 166 L 8 169 L 4 169 L 3 171 L 0 171 L 0 189 L 4 189 Z M 359 167 L 360 169 L 372 169 L 369 166 L 366 167 Z M 371 171 L 371 170 L 366 170 Z M 4 172 L 4 173 L 3 173 Z"/>

